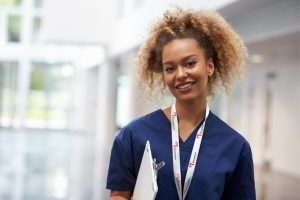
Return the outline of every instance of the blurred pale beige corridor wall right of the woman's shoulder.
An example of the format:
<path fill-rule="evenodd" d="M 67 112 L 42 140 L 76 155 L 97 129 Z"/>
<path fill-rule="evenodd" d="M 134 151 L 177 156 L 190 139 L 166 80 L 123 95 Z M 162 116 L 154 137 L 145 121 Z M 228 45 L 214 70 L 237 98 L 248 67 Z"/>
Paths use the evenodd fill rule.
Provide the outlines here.
<path fill-rule="evenodd" d="M 250 66 L 253 67 L 253 66 Z M 247 91 L 253 93 L 244 98 L 252 98 L 248 102 L 252 106 L 244 107 L 243 132 L 249 136 L 254 161 L 262 166 L 264 160 L 270 161 L 271 168 L 300 177 L 300 75 L 299 64 L 289 62 L 282 66 L 261 66 L 249 69 Z M 266 122 L 266 75 L 274 72 L 277 77 L 271 82 L 273 98 L 270 108 L 270 148 L 266 148 L 264 132 Z M 250 97 L 250 95 L 253 95 Z"/>

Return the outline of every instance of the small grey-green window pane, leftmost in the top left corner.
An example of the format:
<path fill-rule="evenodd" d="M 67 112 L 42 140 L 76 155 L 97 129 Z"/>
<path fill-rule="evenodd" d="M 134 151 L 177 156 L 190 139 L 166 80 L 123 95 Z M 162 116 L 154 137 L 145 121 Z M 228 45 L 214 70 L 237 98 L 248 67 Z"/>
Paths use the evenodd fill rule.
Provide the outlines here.
<path fill-rule="evenodd" d="M 8 17 L 7 40 L 9 42 L 20 42 L 21 40 L 21 17 L 20 16 Z"/>

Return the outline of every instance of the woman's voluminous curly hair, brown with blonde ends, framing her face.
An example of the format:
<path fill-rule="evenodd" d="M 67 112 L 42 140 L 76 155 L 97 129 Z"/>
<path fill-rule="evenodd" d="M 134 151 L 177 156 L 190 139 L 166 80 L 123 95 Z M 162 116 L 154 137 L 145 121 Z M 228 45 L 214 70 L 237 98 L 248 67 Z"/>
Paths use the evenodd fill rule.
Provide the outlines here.
<path fill-rule="evenodd" d="M 151 27 L 150 34 L 140 47 L 136 64 L 138 81 L 152 98 L 158 89 L 166 88 L 163 79 L 162 50 L 174 39 L 193 38 L 204 49 L 206 58 L 212 58 L 214 73 L 208 79 L 207 94 L 222 85 L 227 94 L 231 92 L 233 75 L 241 77 L 247 49 L 243 40 L 215 11 L 195 11 L 176 8 L 166 11 Z"/>

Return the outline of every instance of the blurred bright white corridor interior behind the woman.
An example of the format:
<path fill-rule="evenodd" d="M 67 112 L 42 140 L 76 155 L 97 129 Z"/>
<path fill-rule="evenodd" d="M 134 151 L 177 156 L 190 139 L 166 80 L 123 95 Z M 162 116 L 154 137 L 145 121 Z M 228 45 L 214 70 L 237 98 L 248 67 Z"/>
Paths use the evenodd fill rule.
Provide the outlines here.
<path fill-rule="evenodd" d="M 211 109 L 250 142 L 258 200 L 300 199 L 299 0 L 0 0 L 0 200 L 102 200 L 110 149 L 145 103 L 134 57 L 170 4 L 220 12 L 249 50 Z"/>

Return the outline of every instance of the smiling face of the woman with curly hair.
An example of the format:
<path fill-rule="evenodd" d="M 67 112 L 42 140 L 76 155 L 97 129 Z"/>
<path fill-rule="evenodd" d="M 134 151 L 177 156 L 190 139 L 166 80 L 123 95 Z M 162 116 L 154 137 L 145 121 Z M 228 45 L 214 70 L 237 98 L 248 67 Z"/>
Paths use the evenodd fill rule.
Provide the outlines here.
<path fill-rule="evenodd" d="M 178 101 L 206 98 L 208 77 L 214 72 L 212 59 L 195 39 L 175 39 L 162 51 L 163 75 L 166 85 Z"/>

